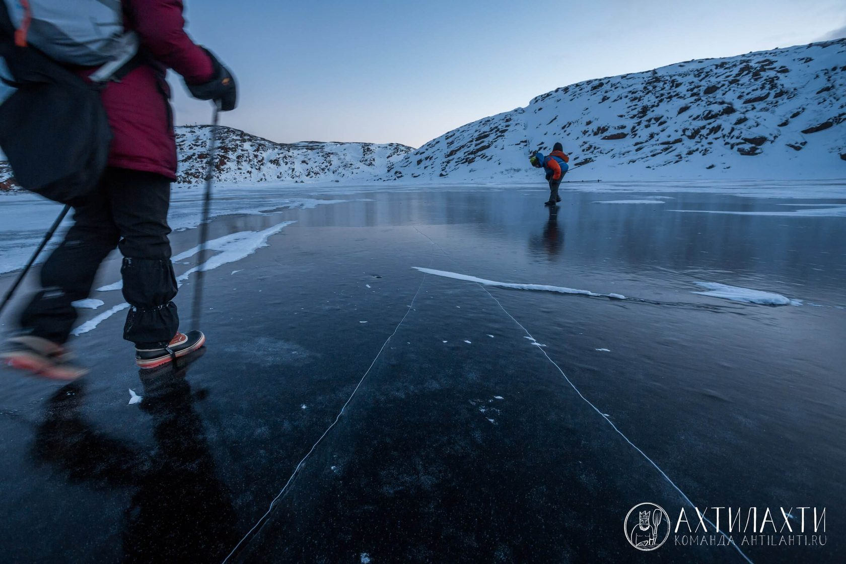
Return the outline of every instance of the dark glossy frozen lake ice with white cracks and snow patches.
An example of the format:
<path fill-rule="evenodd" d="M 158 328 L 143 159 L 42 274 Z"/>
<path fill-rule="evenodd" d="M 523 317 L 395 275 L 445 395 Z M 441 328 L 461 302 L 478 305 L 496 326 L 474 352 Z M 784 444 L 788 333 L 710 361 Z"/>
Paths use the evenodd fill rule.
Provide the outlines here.
<path fill-rule="evenodd" d="M 842 554 L 843 183 L 602 184 L 552 211 L 536 185 L 223 187 L 208 347 L 179 378 L 140 381 L 122 312 L 102 317 L 117 289 L 80 313 L 90 375 L 0 369 L 0 550 L 619 561 L 652 501 L 827 507 L 832 527 L 667 561 Z M 185 316 L 200 199 L 174 197 Z M 9 271 L 53 210 L 0 200 Z M 113 257 L 96 287 L 118 278 Z"/>

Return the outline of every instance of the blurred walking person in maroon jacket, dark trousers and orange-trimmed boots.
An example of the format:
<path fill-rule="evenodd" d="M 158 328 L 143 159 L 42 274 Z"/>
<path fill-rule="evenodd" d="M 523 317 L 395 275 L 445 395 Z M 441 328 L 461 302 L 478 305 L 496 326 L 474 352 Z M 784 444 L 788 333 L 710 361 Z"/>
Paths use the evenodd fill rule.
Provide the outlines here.
<path fill-rule="evenodd" d="M 113 132 L 98 187 L 74 205 L 74 225 L 41 268 L 41 290 L 20 316 L 21 331 L 2 353 L 6 364 L 62 380 L 86 370 L 72 364 L 65 343 L 76 320 L 73 302 L 88 297 L 96 271 L 115 247 L 129 314 L 124 339 L 135 360 L 154 368 L 201 348 L 201 331 L 179 331 L 168 241 L 170 183 L 176 139 L 165 73 L 172 68 L 191 94 L 223 110 L 236 103 L 232 74 L 184 31 L 181 0 L 124 0 L 125 26 L 140 38 L 136 68 L 102 91 Z M 91 74 L 95 69 L 83 71 Z"/>

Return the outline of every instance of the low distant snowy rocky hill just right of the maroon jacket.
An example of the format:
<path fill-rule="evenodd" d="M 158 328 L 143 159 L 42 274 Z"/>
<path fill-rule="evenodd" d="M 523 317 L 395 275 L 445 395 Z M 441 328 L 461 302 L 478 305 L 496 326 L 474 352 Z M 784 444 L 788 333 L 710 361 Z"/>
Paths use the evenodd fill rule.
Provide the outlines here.
<path fill-rule="evenodd" d="M 176 128 L 179 183 L 201 183 L 211 126 Z M 220 128 L 215 180 L 222 183 L 300 183 L 366 180 L 384 176 L 389 167 L 413 151 L 388 143 L 274 143 L 227 127 Z"/>

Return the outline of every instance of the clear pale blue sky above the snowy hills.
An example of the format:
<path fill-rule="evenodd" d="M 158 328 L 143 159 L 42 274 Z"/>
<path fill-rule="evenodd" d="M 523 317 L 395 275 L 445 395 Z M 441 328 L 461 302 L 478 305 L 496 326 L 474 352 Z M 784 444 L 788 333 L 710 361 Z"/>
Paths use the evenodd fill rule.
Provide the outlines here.
<path fill-rule="evenodd" d="M 419 146 L 585 79 L 846 36 L 843 0 L 184 0 L 233 69 L 222 123 L 275 141 Z M 177 123 L 208 123 L 174 85 Z"/>

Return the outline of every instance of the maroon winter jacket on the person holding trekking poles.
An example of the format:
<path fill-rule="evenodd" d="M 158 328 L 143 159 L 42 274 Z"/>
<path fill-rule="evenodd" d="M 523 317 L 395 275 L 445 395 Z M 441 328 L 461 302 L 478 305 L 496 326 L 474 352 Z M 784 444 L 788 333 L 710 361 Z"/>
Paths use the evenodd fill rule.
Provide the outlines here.
<path fill-rule="evenodd" d="M 113 140 L 110 167 L 176 178 L 176 138 L 167 68 L 190 84 L 211 80 L 211 60 L 185 33 L 182 0 L 124 0 L 127 28 L 154 62 L 142 64 L 102 92 Z"/>

